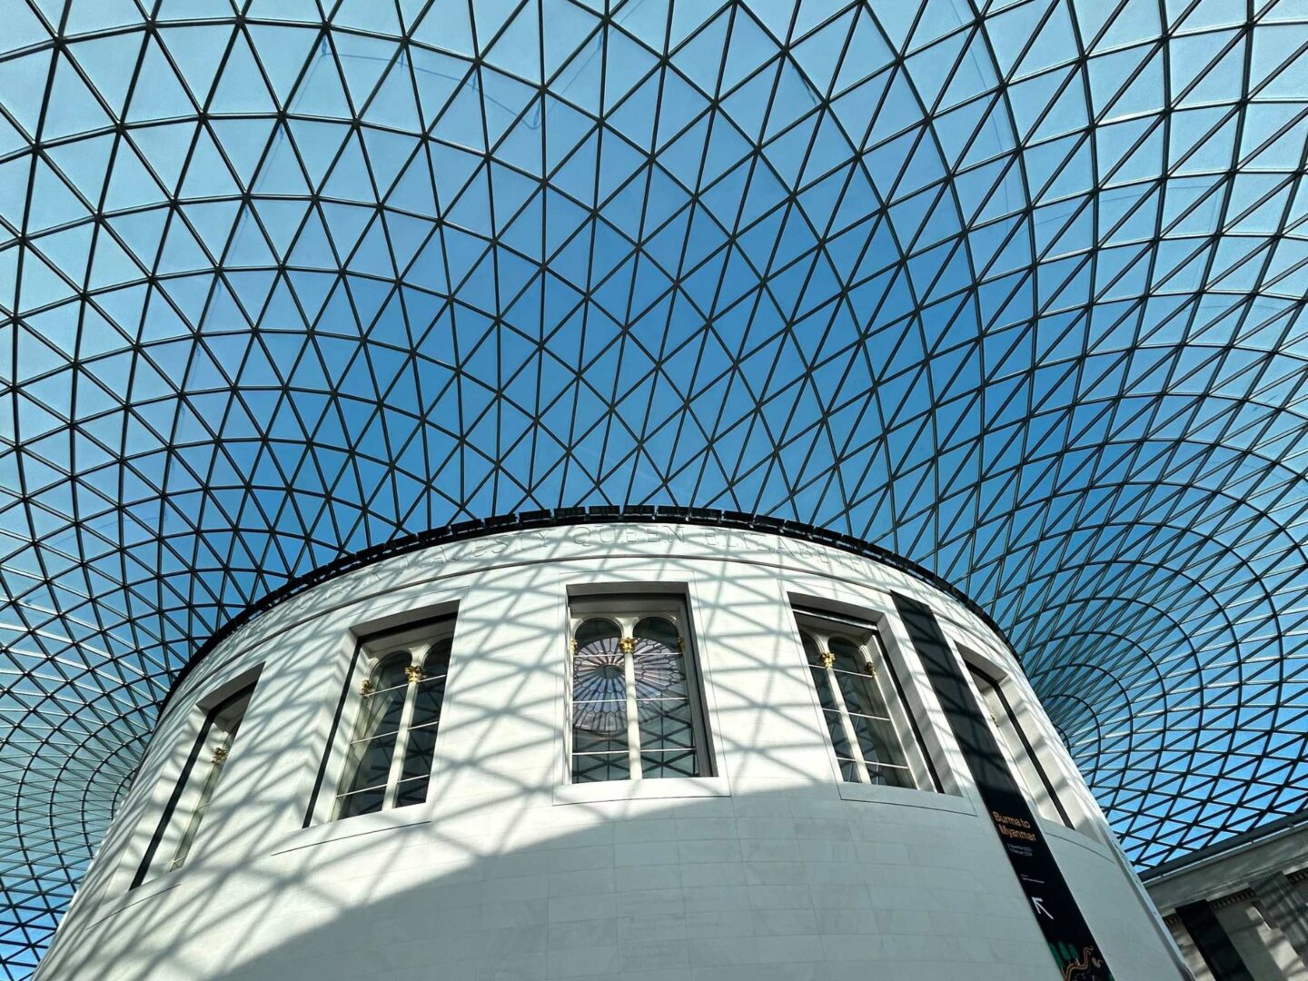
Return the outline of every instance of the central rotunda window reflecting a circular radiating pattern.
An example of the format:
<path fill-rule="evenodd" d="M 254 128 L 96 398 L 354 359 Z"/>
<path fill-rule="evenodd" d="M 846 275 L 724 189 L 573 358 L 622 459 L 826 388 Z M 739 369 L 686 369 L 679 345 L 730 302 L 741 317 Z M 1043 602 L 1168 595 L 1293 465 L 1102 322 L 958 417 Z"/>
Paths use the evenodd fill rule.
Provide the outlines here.
<path fill-rule="evenodd" d="M 684 603 L 585 596 L 570 607 L 573 782 L 712 776 Z"/>

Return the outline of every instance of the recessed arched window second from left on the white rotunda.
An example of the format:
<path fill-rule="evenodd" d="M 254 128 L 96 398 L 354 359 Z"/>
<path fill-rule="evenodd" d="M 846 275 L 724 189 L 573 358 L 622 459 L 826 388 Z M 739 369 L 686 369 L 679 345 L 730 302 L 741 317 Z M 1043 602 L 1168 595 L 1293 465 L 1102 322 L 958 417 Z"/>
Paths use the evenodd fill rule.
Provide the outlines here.
<path fill-rule="evenodd" d="M 362 642 L 368 675 L 332 820 L 426 800 L 454 619 Z"/>

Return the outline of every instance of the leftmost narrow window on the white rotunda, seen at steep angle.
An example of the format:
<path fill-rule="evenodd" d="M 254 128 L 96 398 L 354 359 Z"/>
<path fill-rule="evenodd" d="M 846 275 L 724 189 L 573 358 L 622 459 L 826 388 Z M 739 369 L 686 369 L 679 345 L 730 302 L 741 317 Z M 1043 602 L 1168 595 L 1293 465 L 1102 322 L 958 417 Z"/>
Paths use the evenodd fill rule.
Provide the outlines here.
<path fill-rule="evenodd" d="M 145 858 L 132 879 L 132 888 L 186 865 L 213 793 L 228 766 L 237 730 L 241 729 L 252 695 L 251 684 L 205 710 L 200 735 L 145 849 Z"/>

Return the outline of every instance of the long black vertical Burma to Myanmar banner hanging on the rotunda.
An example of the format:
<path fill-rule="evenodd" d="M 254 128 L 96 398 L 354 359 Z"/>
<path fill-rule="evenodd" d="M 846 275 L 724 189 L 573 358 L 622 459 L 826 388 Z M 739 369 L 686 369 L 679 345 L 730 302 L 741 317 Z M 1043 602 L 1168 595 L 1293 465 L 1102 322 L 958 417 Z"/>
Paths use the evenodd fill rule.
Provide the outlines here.
<path fill-rule="evenodd" d="M 925 603 L 892 594 L 950 729 L 963 751 L 994 829 L 1018 875 L 1031 914 L 1049 943 L 1065 981 L 1112 981 L 1104 955 L 1054 862 L 1040 823 L 1014 778 L 981 706 L 950 651 L 935 613 Z"/>

